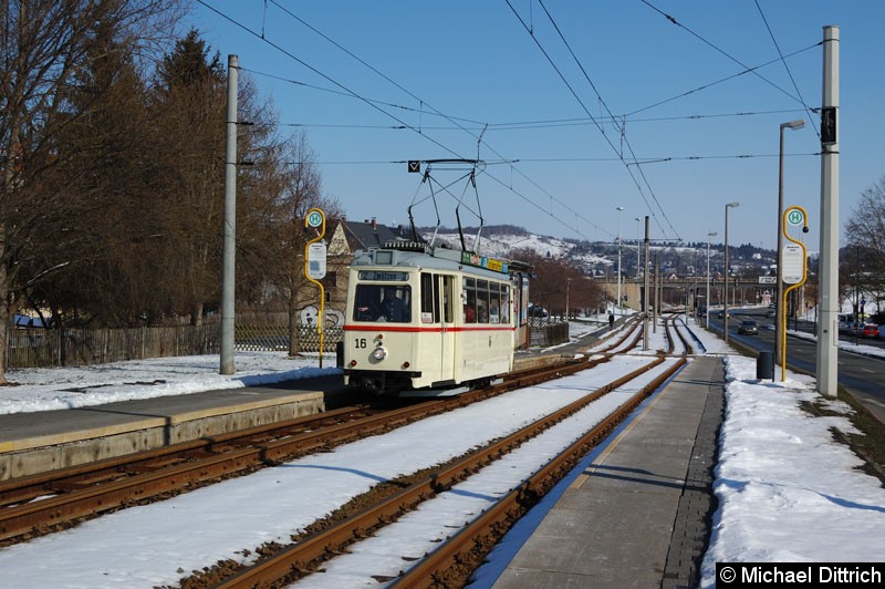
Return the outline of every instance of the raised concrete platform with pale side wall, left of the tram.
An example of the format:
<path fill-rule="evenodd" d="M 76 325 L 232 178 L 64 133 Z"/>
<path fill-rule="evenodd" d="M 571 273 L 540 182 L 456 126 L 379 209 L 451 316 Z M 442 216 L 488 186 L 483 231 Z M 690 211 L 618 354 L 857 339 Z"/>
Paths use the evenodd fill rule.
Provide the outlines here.
<path fill-rule="evenodd" d="M 154 450 L 344 403 L 341 376 L 0 415 L 0 480 Z"/>

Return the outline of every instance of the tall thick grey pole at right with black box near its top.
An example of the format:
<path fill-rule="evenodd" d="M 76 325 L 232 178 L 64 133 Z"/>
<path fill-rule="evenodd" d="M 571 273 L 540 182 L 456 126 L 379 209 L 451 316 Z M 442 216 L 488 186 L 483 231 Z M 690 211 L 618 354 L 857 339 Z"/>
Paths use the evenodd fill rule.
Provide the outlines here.
<path fill-rule="evenodd" d="M 839 379 L 839 27 L 823 28 L 821 102 L 821 321 L 818 324 L 818 391 L 835 397 Z"/>

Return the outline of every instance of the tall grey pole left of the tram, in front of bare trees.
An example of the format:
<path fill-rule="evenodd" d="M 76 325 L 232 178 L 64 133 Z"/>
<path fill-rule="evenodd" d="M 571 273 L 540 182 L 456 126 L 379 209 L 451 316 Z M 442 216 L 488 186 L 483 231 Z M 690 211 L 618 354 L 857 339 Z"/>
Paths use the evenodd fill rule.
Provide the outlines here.
<path fill-rule="evenodd" d="M 225 155 L 225 224 L 221 251 L 220 374 L 233 374 L 233 272 L 237 251 L 237 74 L 239 60 L 228 55 L 228 117 Z"/>

